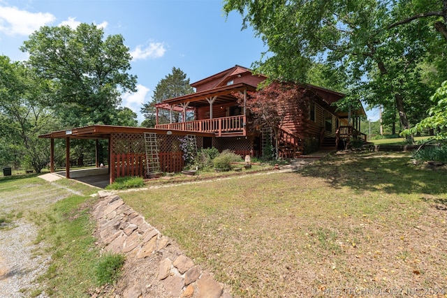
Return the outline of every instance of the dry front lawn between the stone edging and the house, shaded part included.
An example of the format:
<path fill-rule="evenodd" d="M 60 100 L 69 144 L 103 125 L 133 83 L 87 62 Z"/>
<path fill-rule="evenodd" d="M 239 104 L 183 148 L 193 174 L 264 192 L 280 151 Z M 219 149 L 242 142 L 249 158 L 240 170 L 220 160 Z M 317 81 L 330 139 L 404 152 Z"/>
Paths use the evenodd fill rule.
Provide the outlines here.
<path fill-rule="evenodd" d="M 120 196 L 234 297 L 447 294 L 446 172 L 409 161 L 336 154 L 300 173 Z"/>

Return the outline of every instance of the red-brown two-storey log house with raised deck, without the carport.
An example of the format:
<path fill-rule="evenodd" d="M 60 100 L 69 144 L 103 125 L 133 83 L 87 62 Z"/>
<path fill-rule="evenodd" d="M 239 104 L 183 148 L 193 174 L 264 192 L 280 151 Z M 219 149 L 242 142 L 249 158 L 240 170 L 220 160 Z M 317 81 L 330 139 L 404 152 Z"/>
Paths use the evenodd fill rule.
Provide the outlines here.
<path fill-rule="evenodd" d="M 205 147 L 216 147 L 219 151 L 230 149 L 235 153 L 263 156 L 266 144 L 274 144 L 269 128 L 252 125 L 252 117 L 245 103 L 247 92 L 256 91 L 258 84 L 267 77 L 254 75 L 251 70 L 234 66 L 220 73 L 194 82 L 191 87 L 196 93 L 163 100 L 156 105 L 156 128 L 189 131 L 191 133 L 213 133 L 205 138 Z M 333 105 L 344 98 L 344 94 L 316 87 L 297 84 L 306 97 L 306 117 L 297 119 L 291 112 L 281 126 L 279 157 L 293 158 L 318 149 L 338 149 L 349 144 L 352 138 L 365 140 L 360 133 L 360 118 L 365 110 L 341 112 Z M 243 103 L 237 102 L 235 93 L 242 94 Z M 170 123 L 159 124 L 159 109 L 170 110 Z M 193 121 L 173 122 L 173 112 L 193 112 Z"/>

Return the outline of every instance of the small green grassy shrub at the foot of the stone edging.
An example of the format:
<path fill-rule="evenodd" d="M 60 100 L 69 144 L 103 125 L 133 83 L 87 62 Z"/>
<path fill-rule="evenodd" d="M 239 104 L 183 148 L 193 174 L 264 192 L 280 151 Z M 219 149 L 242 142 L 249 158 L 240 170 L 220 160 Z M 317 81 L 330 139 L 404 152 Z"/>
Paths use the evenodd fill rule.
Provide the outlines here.
<path fill-rule="evenodd" d="M 96 265 L 96 279 L 99 285 L 113 284 L 119 278 L 126 257 L 119 253 L 108 253 Z"/>

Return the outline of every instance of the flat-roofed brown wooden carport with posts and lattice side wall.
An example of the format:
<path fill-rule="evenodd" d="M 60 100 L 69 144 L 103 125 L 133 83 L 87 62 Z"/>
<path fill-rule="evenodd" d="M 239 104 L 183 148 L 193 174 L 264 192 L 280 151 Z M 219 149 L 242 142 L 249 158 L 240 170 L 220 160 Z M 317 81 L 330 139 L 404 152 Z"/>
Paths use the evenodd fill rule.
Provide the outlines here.
<path fill-rule="evenodd" d="M 182 151 L 179 149 L 179 140 L 182 137 L 194 135 L 198 148 L 203 147 L 203 137 L 214 137 L 213 133 L 109 125 L 92 125 L 65 131 L 54 131 L 39 135 L 39 137 L 50 139 L 50 172 L 54 172 L 54 139 L 65 139 L 65 177 L 68 179 L 75 174 L 74 171 L 70 170 L 71 139 L 96 140 L 96 168 L 100 167 L 98 164 L 98 140 L 108 140 L 108 177 L 109 183 L 112 184 L 117 177 L 146 177 L 145 133 L 156 135 L 161 172 L 182 171 L 184 161 Z M 88 173 L 88 171 L 85 172 Z"/>

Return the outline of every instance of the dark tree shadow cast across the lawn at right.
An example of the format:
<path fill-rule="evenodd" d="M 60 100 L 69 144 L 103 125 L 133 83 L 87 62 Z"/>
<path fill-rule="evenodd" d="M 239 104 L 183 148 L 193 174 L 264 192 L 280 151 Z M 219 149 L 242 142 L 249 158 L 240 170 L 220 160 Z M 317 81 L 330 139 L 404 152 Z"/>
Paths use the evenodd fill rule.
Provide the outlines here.
<path fill-rule="evenodd" d="M 410 159 L 409 154 L 402 153 L 333 154 L 300 173 L 307 177 L 323 178 L 334 188 L 348 186 L 360 193 L 447 193 L 445 170 L 423 170 L 413 165 Z"/>

